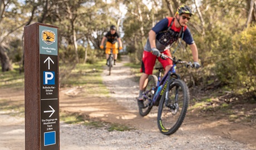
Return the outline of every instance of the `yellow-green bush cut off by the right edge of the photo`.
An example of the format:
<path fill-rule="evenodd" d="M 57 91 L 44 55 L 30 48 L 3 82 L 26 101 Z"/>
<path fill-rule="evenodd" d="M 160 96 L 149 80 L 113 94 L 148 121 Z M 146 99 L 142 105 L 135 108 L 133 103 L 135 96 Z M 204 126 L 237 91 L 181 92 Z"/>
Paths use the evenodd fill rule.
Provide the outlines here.
<path fill-rule="evenodd" d="M 253 92 L 256 96 L 256 26 L 234 36 L 233 50 L 234 57 L 230 61 L 237 75 L 234 77 L 234 86 L 242 88 L 240 90 L 244 92 Z"/>

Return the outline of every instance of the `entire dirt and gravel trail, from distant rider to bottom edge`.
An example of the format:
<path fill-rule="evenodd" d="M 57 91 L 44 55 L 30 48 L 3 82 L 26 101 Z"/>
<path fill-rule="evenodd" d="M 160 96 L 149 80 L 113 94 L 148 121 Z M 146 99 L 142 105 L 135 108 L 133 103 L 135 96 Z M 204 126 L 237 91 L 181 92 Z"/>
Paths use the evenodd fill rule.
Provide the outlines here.
<path fill-rule="evenodd" d="M 137 130 L 109 133 L 104 129 L 61 123 L 61 149 L 256 149 L 255 126 L 214 116 L 205 118 L 192 112 L 175 134 L 161 134 L 156 123 L 157 107 L 145 117 L 139 115 L 135 101 L 139 87 L 132 81 L 134 75 L 130 68 L 124 66 L 126 62 L 127 57 L 122 57 L 111 76 L 105 66 L 102 77 L 110 97 L 85 96 L 82 87 L 60 89 L 60 109 L 126 124 Z M 0 89 L 0 101 L 3 99 L 23 103 L 24 91 Z M 24 118 L 10 114 L 13 112 L 0 110 L 0 149 L 24 149 Z"/>

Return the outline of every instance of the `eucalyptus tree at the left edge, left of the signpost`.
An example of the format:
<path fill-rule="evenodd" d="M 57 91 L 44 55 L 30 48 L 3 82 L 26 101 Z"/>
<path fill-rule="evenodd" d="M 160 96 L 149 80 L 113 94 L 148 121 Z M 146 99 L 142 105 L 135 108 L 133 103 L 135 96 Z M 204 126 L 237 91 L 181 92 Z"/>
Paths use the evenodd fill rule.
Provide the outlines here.
<path fill-rule="evenodd" d="M 21 1 L 0 1 L 0 59 L 3 72 L 12 69 L 8 57 L 12 54 L 10 44 L 22 39 L 22 28 L 27 24 L 29 17 L 26 14 L 29 11 Z"/>

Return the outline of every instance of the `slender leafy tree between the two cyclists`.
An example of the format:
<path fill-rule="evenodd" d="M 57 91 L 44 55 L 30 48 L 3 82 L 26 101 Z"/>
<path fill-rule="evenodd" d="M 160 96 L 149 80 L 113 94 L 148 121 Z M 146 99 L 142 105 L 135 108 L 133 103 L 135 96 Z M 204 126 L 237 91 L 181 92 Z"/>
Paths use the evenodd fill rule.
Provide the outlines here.
<path fill-rule="evenodd" d="M 139 62 L 142 57 L 143 46 L 147 33 L 152 28 L 150 10 L 145 3 L 139 0 L 125 2 L 127 13 L 124 19 L 124 40 L 127 52 L 135 54 L 133 57 Z"/>

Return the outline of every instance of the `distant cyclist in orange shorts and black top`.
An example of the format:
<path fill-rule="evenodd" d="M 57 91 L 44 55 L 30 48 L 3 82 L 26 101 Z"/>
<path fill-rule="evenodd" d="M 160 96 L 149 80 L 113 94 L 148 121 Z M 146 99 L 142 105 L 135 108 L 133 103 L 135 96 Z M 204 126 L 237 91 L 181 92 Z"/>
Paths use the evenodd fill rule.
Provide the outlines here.
<path fill-rule="evenodd" d="M 114 65 L 116 64 L 117 54 L 118 54 L 118 43 L 119 42 L 119 50 L 122 49 L 122 41 L 119 36 L 119 34 L 116 32 L 116 26 L 112 25 L 110 27 L 110 31 L 105 34 L 105 36 L 101 40 L 100 48 L 103 49 L 104 42 L 107 39 L 106 42 L 106 59 L 109 59 L 110 50 L 112 48 L 113 55 L 114 55 Z M 107 63 L 106 63 L 107 64 Z"/>

